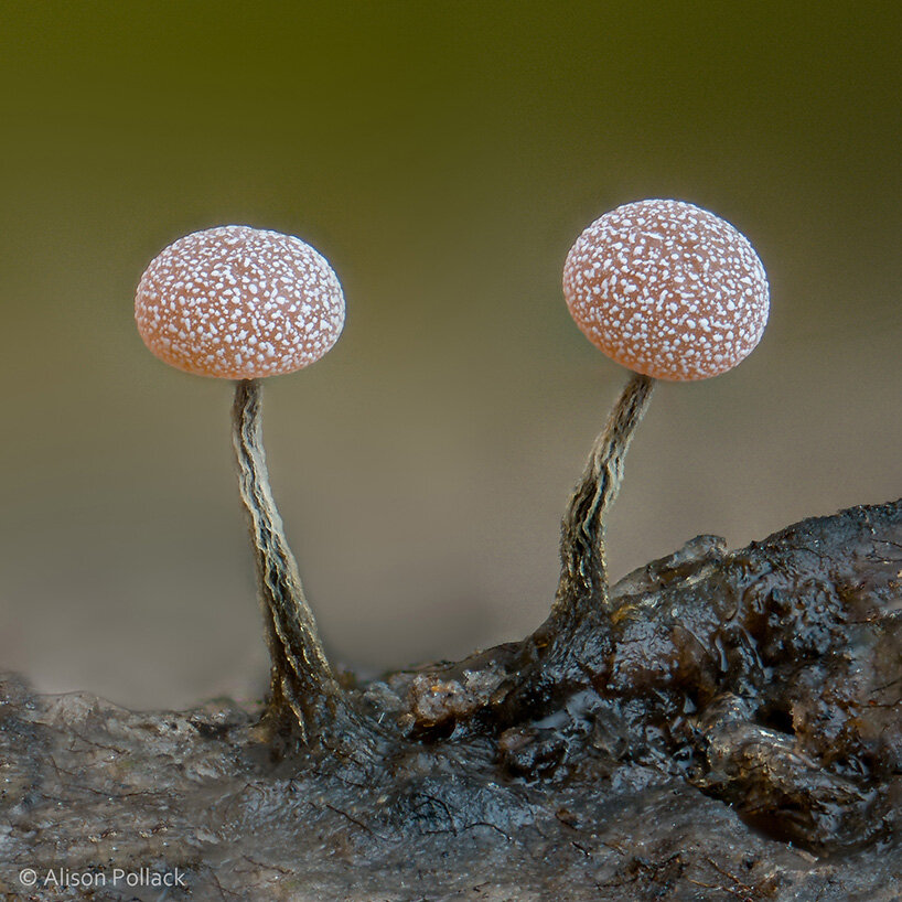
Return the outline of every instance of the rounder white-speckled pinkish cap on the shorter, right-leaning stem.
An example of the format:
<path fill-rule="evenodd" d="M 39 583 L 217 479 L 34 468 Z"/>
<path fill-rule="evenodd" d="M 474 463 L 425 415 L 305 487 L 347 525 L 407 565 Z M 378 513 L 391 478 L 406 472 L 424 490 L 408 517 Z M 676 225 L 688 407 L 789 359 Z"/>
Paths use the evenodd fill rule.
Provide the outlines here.
<path fill-rule="evenodd" d="M 595 219 L 567 255 L 563 294 L 609 357 L 673 382 L 731 369 L 767 323 L 767 279 L 748 239 L 683 201 L 637 201 Z"/>

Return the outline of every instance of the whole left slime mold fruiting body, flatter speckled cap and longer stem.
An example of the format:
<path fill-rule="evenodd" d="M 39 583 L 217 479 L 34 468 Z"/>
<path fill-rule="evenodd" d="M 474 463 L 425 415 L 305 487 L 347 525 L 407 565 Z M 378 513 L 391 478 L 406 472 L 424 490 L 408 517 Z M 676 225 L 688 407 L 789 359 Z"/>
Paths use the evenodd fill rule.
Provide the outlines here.
<path fill-rule="evenodd" d="M 272 662 L 268 717 L 301 741 L 341 729 L 344 695 L 284 537 L 262 444 L 260 384 L 320 359 L 344 324 L 325 258 L 300 238 L 248 226 L 187 235 L 148 266 L 135 299 L 147 346 L 201 376 L 236 379 L 233 443 Z"/>

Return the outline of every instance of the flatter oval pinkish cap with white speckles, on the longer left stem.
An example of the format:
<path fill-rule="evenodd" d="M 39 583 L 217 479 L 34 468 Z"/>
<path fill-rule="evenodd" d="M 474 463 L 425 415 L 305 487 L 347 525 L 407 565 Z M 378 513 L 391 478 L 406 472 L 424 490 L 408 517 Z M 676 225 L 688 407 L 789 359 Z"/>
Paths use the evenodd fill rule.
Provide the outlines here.
<path fill-rule="evenodd" d="M 150 262 L 135 319 L 144 344 L 179 369 L 262 378 L 301 369 L 335 344 L 344 296 L 325 257 L 300 238 L 219 226 Z"/>

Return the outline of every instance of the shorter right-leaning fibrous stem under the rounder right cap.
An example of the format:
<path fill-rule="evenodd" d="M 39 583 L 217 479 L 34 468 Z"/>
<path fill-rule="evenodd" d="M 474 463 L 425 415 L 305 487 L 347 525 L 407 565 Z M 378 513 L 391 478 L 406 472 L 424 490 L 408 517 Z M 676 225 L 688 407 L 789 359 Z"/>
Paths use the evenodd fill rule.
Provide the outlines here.
<path fill-rule="evenodd" d="M 577 626 L 599 608 L 610 613 L 604 520 L 620 492 L 623 461 L 654 385 L 651 376 L 640 374 L 626 384 L 570 497 L 561 524 L 561 571 L 552 611 L 559 627 Z"/>

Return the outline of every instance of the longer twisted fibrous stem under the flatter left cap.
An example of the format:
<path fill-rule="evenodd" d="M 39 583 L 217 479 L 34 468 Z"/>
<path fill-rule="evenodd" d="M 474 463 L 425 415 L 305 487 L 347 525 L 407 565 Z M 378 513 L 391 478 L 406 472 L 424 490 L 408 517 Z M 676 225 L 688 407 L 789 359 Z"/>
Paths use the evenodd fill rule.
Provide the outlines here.
<path fill-rule="evenodd" d="M 260 394 L 256 379 L 236 383 L 232 425 L 238 486 L 249 518 L 272 665 L 268 715 L 277 723 L 287 716 L 294 721 L 299 739 L 309 742 L 340 727 L 347 710 L 272 498 L 262 442 Z"/>

